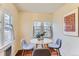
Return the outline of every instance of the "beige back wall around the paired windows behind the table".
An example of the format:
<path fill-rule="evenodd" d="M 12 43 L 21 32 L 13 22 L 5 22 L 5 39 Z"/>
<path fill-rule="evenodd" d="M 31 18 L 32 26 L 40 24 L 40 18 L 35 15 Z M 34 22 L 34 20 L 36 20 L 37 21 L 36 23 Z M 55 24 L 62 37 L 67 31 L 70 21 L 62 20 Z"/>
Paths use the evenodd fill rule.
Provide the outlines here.
<path fill-rule="evenodd" d="M 20 12 L 20 36 L 29 43 L 32 39 L 32 25 L 35 20 L 52 21 L 51 14 Z M 38 18 L 38 19 L 36 19 Z"/>

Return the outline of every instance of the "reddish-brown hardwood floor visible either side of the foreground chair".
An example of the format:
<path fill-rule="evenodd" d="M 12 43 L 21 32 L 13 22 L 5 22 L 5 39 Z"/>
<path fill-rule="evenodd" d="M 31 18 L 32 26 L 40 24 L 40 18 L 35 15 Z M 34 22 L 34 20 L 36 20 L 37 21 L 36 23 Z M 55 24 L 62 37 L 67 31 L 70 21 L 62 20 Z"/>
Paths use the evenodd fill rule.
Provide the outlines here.
<path fill-rule="evenodd" d="M 51 56 L 58 56 L 58 52 L 52 48 L 49 48 Z M 15 56 L 32 56 L 33 50 L 19 50 Z"/>

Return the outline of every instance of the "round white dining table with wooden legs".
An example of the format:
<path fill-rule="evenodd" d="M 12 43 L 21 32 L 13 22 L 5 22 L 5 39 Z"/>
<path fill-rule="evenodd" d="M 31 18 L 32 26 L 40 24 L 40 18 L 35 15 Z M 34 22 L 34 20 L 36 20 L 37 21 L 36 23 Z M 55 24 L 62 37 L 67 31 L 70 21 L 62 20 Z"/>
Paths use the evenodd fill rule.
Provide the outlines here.
<path fill-rule="evenodd" d="M 37 38 L 34 38 L 31 40 L 31 43 L 35 44 L 35 47 L 38 48 L 47 48 L 48 44 L 52 42 L 52 39 L 44 38 L 43 40 L 38 40 Z"/>

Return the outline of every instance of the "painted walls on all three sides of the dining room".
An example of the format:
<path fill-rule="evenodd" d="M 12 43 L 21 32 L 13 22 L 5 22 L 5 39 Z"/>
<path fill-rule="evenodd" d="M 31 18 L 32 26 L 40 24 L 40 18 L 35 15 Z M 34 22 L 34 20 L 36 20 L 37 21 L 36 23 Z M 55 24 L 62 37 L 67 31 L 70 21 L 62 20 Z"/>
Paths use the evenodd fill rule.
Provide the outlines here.
<path fill-rule="evenodd" d="M 1 10 L 9 10 L 13 16 L 13 25 L 15 30 L 15 40 L 13 42 L 14 55 L 21 48 L 21 39 L 25 38 L 28 43 L 32 39 L 32 25 L 38 17 L 39 21 L 53 21 L 53 39 L 61 38 L 61 55 L 79 55 L 79 37 L 65 36 L 63 34 L 63 16 L 71 10 L 79 7 L 79 4 L 65 4 L 54 12 L 54 14 L 19 12 L 13 4 L 0 4 Z M 52 20 L 53 16 L 53 20 Z"/>

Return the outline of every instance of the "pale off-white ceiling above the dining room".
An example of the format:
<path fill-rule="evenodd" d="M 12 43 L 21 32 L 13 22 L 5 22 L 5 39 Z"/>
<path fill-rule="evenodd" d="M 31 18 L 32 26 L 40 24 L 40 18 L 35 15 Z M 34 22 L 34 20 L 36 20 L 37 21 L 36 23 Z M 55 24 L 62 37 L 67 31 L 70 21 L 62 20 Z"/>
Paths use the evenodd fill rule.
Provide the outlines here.
<path fill-rule="evenodd" d="M 53 13 L 64 5 L 64 3 L 16 3 L 19 11 L 34 13 Z"/>

